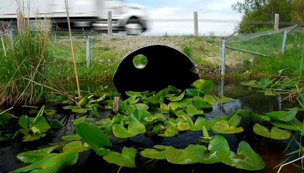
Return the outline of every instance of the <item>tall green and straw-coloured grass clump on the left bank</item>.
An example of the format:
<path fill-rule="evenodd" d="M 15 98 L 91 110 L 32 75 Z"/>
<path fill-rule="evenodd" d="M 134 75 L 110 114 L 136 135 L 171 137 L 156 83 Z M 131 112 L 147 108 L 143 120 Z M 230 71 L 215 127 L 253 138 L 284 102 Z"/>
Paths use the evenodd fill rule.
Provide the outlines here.
<path fill-rule="evenodd" d="M 0 50 L 0 105 L 37 104 L 44 95 L 43 87 L 30 80 L 44 83 L 37 71 L 45 74 L 50 23 L 36 19 L 37 25 L 32 27 L 28 18 L 21 12 L 18 15 L 21 17 L 17 23 L 21 25 L 13 49 L 9 38 L 1 35 L 4 46 Z"/>

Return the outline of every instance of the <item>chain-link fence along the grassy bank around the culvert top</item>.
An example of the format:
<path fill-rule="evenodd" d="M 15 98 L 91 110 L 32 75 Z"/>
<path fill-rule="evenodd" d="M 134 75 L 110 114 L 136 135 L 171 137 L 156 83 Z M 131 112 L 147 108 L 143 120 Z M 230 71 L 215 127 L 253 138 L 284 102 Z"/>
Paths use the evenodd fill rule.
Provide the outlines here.
<path fill-rule="evenodd" d="M 11 35 L 7 32 L 7 36 Z M 50 56 L 56 58 L 56 63 L 73 63 L 68 29 L 53 28 L 49 40 Z M 304 29 L 291 26 L 277 31 L 234 33 L 230 36 L 227 32 L 206 32 L 199 33 L 198 36 L 193 33 L 144 32 L 138 36 L 130 36 L 126 32 L 108 35 L 104 30 L 72 29 L 72 40 L 77 64 L 92 64 L 94 68 L 105 66 L 104 70 L 107 70 L 108 76 L 113 75 L 126 55 L 152 44 L 170 46 L 183 52 L 193 60 L 200 74 L 220 74 L 224 68 L 223 62 L 226 73 L 244 72 L 254 64 L 257 56 L 280 56 L 283 52 L 301 54 L 304 47 Z M 221 45 L 223 40 L 226 40 L 224 58 Z M 73 74 L 73 70 L 70 71 Z"/>

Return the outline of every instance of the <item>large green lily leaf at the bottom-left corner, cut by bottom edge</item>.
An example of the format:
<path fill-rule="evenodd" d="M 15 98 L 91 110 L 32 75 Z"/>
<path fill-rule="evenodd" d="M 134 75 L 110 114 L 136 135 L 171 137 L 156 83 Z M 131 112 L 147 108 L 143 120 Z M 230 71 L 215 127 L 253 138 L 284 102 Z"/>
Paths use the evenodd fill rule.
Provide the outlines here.
<path fill-rule="evenodd" d="M 29 166 L 8 173 L 59 173 L 65 168 L 72 167 L 78 159 L 77 152 L 66 152 L 39 160 Z"/>

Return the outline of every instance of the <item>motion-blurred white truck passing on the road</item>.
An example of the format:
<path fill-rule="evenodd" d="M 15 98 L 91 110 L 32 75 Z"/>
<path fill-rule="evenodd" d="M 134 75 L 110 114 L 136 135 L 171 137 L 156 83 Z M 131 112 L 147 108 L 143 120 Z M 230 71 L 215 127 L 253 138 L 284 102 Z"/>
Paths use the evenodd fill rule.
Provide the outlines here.
<path fill-rule="evenodd" d="M 68 27 L 65 0 L 1 0 L 0 21 L 16 21 L 17 4 L 20 3 L 25 6 L 24 11 L 30 11 L 25 16 L 29 16 L 33 22 L 37 17 L 50 17 L 55 26 Z M 127 31 L 127 34 L 133 35 L 148 29 L 147 8 L 142 5 L 126 3 L 124 0 L 69 0 L 72 28 L 106 30 L 108 11 L 112 11 L 114 31 Z"/>

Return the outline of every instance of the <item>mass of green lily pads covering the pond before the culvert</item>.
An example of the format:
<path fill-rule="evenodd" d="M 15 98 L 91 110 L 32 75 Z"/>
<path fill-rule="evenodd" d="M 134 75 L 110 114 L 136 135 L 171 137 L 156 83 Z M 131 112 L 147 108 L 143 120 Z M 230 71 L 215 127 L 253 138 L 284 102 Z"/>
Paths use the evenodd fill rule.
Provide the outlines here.
<path fill-rule="evenodd" d="M 269 82 L 271 81 L 263 80 L 258 85 L 269 86 Z M 291 133 L 284 129 L 298 131 L 298 128 L 302 128 L 302 123 L 296 117 L 297 108 L 264 115 L 250 110 L 237 110 L 229 115 L 206 119 L 204 113 L 212 109 L 213 105 L 227 103 L 233 99 L 208 93 L 213 87 L 212 80 L 200 79 L 192 86 L 194 88 L 184 91 L 168 86 L 158 92 L 126 92 L 129 98 L 120 101 L 118 110 L 110 111 L 106 118 L 99 117 L 98 108 L 112 110 L 115 107 L 114 100 L 117 99 L 115 97 L 119 97 L 116 92 L 96 92 L 84 96 L 78 103 L 74 103 L 75 105 L 65 102 L 69 105 L 64 105 L 63 110 L 79 115 L 72 120 L 76 133 L 62 136 L 62 142 L 59 144 L 20 153 L 17 158 L 32 165 L 12 172 L 60 172 L 76 163 L 79 152 L 88 150 L 93 150 L 108 163 L 120 167 L 135 168 L 135 158 L 140 153 L 142 157 L 166 160 L 172 164 L 221 162 L 238 169 L 257 171 L 264 169 L 265 163 L 249 144 L 241 141 L 237 152 L 234 153 L 222 134 L 243 133 L 252 129 L 255 135 L 284 140 L 291 136 Z M 14 138 L 23 136 L 23 142 L 33 141 L 48 135 L 45 132 L 50 128 L 64 128 L 61 120 L 53 119 L 48 123 L 44 115 L 52 116 L 48 115 L 51 113 L 54 112 L 46 112 L 43 106 L 36 117 L 20 116 L 21 129 L 16 132 Z M 13 115 L 7 113 L 1 114 L 1 125 L 5 127 L 12 117 Z M 243 120 L 252 125 L 243 126 Z M 113 136 L 116 139 L 131 138 L 145 133 L 148 138 L 165 138 L 186 131 L 201 131 L 202 137 L 193 141 L 195 144 L 184 148 L 165 145 L 155 145 L 153 148 L 123 146 L 122 150 L 117 152 L 112 147 L 115 145 L 111 138 Z M 11 138 L 11 135 L 0 136 L 0 140 L 7 140 L 6 138 Z"/>

